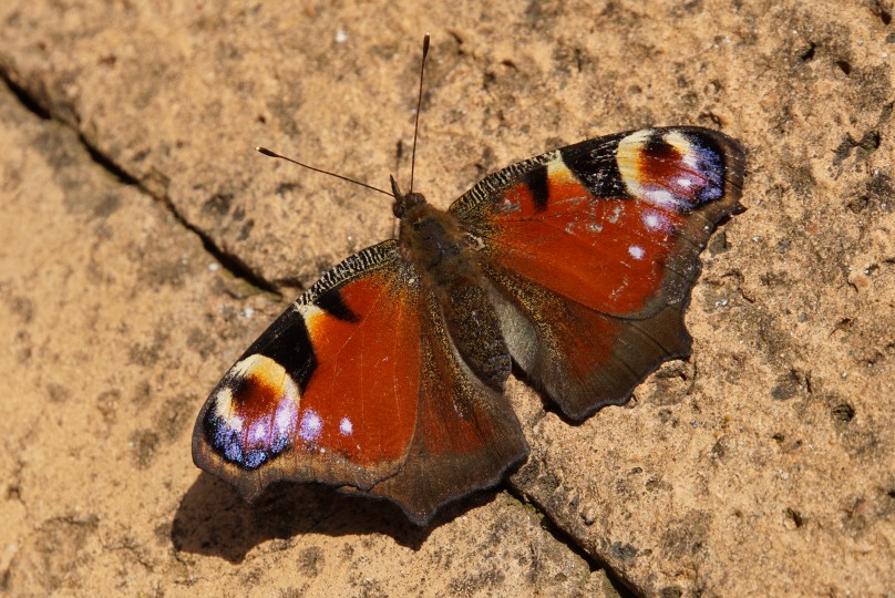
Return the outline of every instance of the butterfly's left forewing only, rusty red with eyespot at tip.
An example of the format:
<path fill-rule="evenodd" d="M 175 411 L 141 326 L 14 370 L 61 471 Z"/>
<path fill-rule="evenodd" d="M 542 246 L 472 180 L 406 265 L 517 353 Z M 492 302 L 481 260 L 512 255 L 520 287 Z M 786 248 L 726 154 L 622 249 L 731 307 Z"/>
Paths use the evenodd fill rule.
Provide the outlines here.
<path fill-rule="evenodd" d="M 277 480 L 370 488 L 416 426 L 420 311 L 397 244 L 351 256 L 302 295 L 218 383 L 193 458 L 248 499 Z"/>

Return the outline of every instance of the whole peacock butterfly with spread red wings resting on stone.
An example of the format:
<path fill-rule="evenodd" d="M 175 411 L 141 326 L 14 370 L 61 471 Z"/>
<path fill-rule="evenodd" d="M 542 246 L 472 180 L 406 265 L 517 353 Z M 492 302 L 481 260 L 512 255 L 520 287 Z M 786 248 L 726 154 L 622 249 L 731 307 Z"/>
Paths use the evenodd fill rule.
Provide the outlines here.
<path fill-rule="evenodd" d="M 446 212 L 392 178 L 398 239 L 326 272 L 243 353 L 193 460 L 249 501 L 319 482 L 425 525 L 527 455 L 513 362 L 580 421 L 689 355 L 699 254 L 741 210 L 743 169 L 734 140 L 677 126 L 513 164 Z"/>

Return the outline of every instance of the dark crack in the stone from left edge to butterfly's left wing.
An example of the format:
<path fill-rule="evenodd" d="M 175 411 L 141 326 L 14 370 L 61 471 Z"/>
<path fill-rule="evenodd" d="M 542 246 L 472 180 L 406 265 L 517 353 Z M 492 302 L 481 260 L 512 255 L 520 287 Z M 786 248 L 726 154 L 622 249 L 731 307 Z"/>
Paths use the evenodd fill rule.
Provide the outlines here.
<path fill-rule="evenodd" d="M 270 292 L 276 295 L 277 297 L 281 297 L 281 292 L 278 287 L 267 279 L 265 279 L 259 274 L 255 272 L 245 261 L 243 261 L 237 255 L 230 254 L 225 251 L 223 248 L 218 247 L 218 245 L 212 239 L 210 235 L 206 231 L 200 229 L 195 224 L 187 220 L 183 214 L 177 209 L 174 203 L 167 196 L 158 196 L 153 194 L 145 185 L 143 185 L 140 181 L 134 178 L 130 173 L 127 173 L 124 168 L 122 168 L 119 164 L 112 161 L 109 156 L 103 154 L 97 147 L 91 144 L 84 134 L 81 131 L 78 131 L 75 126 L 73 126 L 70 122 L 63 118 L 54 117 L 54 114 L 51 110 L 47 109 L 41 102 L 39 97 L 35 97 L 31 93 L 29 93 L 28 89 L 20 85 L 16 82 L 14 78 L 11 74 L 11 71 L 8 69 L 8 65 L 0 62 L 0 79 L 6 83 L 7 87 L 12 92 L 12 94 L 19 100 L 22 106 L 38 116 L 42 121 L 56 121 L 64 126 L 71 127 L 78 134 L 78 138 L 81 144 L 86 148 L 88 153 L 90 154 L 91 159 L 101 166 L 103 169 L 109 172 L 112 176 L 119 179 L 122 184 L 134 186 L 138 188 L 141 192 L 145 193 L 150 197 L 155 198 L 156 202 L 161 203 L 164 206 L 165 210 L 171 214 L 174 219 L 184 228 L 196 235 L 199 240 L 202 240 L 202 245 L 205 250 L 214 257 L 217 262 L 227 270 L 234 278 L 238 278 L 245 280 L 249 285 L 257 287 L 264 291 Z"/>

